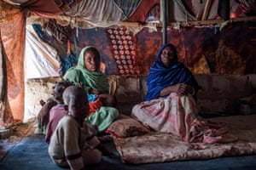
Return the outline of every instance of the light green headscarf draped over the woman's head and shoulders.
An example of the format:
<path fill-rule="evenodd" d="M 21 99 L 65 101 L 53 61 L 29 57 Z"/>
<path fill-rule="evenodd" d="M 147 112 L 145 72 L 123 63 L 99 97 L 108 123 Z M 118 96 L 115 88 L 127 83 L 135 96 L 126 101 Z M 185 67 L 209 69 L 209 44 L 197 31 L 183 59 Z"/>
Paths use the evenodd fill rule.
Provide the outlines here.
<path fill-rule="evenodd" d="M 100 65 L 98 65 L 97 71 L 89 71 L 84 65 L 84 54 L 90 48 L 94 47 L 88 46 L 81 50 L 78 65 L 68 69 L 63 78 L 68 79 L 70 82 L 74 82 L 76 85 L 79 85 L 79 82 L 82 82 L 87 93 L 90 89 L 96 89 L 101 94 L 108 94 L 108 78 L 102 73 L 102 71 L 100 71 Z"/>

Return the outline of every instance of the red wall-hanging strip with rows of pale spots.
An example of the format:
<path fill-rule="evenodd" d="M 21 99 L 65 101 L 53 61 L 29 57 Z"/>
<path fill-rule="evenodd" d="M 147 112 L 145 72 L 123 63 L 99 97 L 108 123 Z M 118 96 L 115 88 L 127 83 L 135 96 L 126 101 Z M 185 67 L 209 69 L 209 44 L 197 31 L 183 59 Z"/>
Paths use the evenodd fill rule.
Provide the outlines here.
<path fill-rule="evenodd" d="M 124 26 L 107 29 L 110 49 L 120 75 L 137 75 L 136 37 Z"/>

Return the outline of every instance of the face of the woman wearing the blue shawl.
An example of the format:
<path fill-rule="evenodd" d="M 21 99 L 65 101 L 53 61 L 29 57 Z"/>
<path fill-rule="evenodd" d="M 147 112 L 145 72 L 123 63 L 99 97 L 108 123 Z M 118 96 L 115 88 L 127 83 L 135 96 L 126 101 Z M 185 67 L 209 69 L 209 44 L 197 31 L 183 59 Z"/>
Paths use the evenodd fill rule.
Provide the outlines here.
<path fill-rule="evenodd" d="M 169 67 L 176 62 L 175 54 L 171 47 L 166 47 L 163 49 L 161 54 L 161 61 L 166 67 Z"/>

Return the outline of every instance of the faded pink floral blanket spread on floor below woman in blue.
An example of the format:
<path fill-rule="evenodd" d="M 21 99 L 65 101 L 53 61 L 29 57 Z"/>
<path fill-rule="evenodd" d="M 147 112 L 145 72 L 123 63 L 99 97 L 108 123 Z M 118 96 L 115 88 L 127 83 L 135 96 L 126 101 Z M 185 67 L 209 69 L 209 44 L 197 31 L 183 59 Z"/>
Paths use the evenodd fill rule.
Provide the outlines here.
<path fill-rule="evenodd" d="M 114 144 L 122 161 L 131 164 L 256 154 L 256 115 L 207 120 L 223 123 L 238 140 L 226 144 L 187 143 L 172 133 L 150 132 L 142 136 L 114 138 Z"/>

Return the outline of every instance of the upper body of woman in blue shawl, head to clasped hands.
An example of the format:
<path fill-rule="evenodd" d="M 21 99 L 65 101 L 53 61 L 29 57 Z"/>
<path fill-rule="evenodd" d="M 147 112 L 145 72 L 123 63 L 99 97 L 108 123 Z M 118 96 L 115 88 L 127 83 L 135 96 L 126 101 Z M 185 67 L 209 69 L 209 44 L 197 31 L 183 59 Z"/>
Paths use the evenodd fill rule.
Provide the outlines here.
<path fill-rule="evenodd" d="M 148 94 L 145 101 L 166 97 L 176 92 L 179 95 L 192 94 L 196 99 L 199 89 L 195 77 L 187 67 L 177 61 L 177 49 L 174 45 L 164 44 L 157 54 L 157 59 L 148 73 Z"/>

